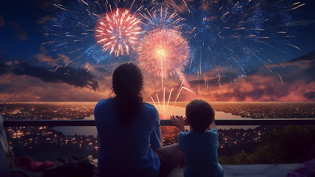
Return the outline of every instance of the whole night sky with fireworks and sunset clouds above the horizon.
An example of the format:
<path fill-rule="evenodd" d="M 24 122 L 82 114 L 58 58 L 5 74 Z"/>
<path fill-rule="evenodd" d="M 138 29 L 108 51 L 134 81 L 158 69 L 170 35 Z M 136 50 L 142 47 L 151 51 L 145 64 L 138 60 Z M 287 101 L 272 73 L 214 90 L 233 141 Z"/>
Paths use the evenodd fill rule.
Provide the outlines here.
<path fill-rule="evenodd" d="M 145 101 L 315 101 L 312 0 L 108 2 L 3 2 L 0 101 L 99 101 L 125 62 Z"/>

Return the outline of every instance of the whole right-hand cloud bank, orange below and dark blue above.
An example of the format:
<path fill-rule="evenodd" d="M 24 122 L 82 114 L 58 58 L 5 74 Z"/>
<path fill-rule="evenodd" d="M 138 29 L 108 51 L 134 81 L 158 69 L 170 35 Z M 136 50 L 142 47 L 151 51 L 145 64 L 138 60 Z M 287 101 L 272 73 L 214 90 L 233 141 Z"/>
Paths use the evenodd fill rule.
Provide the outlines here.
<path fill-rule="evenodd" d="M 246 77 L 226 74 L 220 81 L 214 72 L 186 79 L 196 97 L 208 101 L 315 101 L 315 53 L 266 67 Z"/>

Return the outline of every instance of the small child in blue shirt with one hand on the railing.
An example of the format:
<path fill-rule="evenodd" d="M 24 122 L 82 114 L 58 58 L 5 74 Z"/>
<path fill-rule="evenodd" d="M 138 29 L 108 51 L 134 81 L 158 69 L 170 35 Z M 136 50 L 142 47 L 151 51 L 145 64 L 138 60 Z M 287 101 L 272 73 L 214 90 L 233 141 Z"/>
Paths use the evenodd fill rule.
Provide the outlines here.
<path fill-rule="evenodd" d="M 193 99 L 186 106 L 186 117 L 191 131 L 185 132 L 183 116 L 171 116 L 173 125 L 180 129 L 178 144 L 184 151 L 184 176 L 223 176 L 218 163 L 218 132 L 214 123 L 213 107 L 202 99 Z M 210 129 L 209 129 L 210 128 Z"/>

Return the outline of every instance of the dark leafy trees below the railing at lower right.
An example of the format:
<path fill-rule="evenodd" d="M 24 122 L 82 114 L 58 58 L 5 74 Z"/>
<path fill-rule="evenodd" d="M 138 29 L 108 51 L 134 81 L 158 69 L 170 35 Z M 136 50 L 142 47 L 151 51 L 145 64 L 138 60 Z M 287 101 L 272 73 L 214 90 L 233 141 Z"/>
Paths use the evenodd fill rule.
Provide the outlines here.
<path fill-rule="evenodd" d="M 303 163 L 315 145 L 315 126 L 286 126 L 262 137 L 253 153 L 241 150 L 232 156 L 220 156 L 220 164 Z"/>

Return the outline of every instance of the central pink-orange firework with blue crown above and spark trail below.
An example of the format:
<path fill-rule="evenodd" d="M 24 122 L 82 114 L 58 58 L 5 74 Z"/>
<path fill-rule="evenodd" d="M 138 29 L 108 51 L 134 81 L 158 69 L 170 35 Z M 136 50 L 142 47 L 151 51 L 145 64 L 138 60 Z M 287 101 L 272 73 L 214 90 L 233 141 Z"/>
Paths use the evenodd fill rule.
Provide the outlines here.
<path fill-rule="evenodd" d="M 188 65 L 190 59 L 188 42 L 177 31 L 183 26 L 183 18 L 179 17 L 173 10 L 163 8 L 163 6 L 147 9 L 145 13 L 140 13 L 140 15 L 143 18 L 143 28 L 146 34 L 137 48 L 138 61 L 140 66 L 149 74 L 161 77 L 162 106 L 157 94 L 156 99 L 159 103 L 160 112 L 164 114 L 165 106 L 168 107 L 174 89 L 171 89 L 166 103 L 164 79 L 178 76 L 184 82 L 185 76 L 182 71 Z M 185 82 L 185 85 L 188 85 L 188 83 Z M 180 91 L 178 96 L 179 94 Z M 151 100 L 156 105 L 152 97 Z"/>

